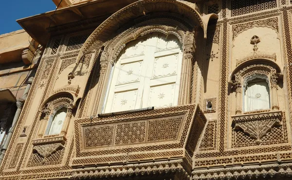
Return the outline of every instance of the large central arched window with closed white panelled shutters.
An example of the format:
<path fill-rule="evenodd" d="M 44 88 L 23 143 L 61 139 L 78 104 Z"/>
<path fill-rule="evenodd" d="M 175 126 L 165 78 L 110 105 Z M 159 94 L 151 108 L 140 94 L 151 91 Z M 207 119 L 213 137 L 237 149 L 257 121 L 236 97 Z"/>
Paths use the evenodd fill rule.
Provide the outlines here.
<path fill-rule="evenodd" d="M 111 69 L 103 112 L 178 105 L 182 56 L 173 35 L 129 42 Z"/>

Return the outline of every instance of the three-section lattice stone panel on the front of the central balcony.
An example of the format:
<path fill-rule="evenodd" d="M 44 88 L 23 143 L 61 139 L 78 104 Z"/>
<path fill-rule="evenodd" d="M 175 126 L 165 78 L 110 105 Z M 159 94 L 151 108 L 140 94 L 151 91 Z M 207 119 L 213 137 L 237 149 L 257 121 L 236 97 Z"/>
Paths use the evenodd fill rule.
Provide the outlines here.
<path fill-rule="evenodd" d="M 178 132 L 185 121 L 185 113 L 175 114 L 175 116 L 142 121 L 133 120 L 133 122 L 118 124 L 81 126 L 84 148 L 176 141 L 179 138 Z"/>

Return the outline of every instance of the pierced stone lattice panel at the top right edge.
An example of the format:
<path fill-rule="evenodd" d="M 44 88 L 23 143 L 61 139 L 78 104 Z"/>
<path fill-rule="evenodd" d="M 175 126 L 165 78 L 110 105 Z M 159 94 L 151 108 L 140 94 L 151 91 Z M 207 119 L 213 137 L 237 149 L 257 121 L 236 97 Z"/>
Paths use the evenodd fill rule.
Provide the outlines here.
<path fill-rule="evenodd" d="M 277 7 L 277 0 L 231 0 L 231 17 Z"/>

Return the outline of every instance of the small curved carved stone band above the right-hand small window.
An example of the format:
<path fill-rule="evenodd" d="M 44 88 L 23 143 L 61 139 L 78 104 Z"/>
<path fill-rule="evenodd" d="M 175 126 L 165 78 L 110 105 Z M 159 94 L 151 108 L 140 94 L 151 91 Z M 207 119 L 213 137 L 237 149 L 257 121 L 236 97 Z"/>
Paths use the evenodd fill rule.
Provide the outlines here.
<path fill-rule="evenodd" d="M 246 62 L 251 59 L 269 59 L 272 61 L 276 61 L 276 54 L 275 53 L 266 53 L 266 52 L 256 52 L 248 54 L 240 59 L 236 60 L 236 66 L 240 65 L 243 62 Z"/>

